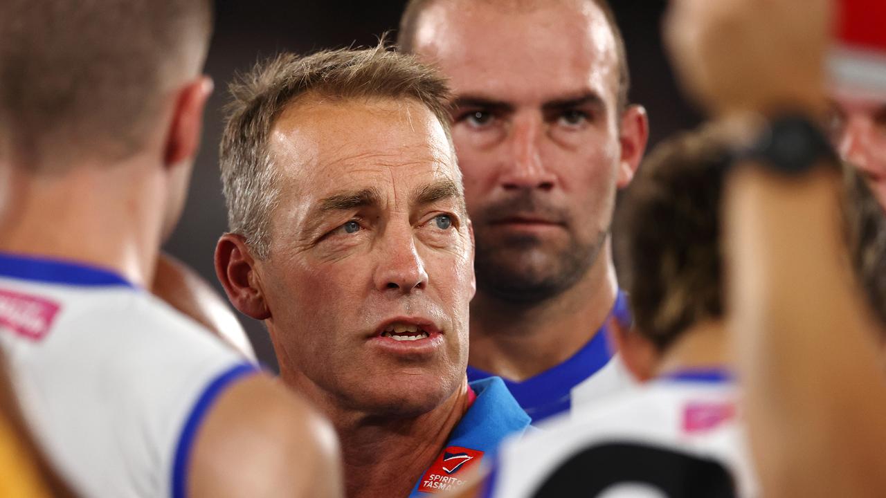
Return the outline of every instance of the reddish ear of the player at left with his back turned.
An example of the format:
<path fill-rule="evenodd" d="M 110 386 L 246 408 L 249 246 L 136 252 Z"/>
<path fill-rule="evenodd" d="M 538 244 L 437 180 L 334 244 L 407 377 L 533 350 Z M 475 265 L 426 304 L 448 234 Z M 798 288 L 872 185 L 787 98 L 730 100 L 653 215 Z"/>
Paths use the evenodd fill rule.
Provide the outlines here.
<path fill-rule="evenodd" d="M 178 92 L 167 133 L 163 161 L 171 167 L 197 155 L 203 132 L 203 111 L 213 92 L 213 81 L 201 76 Z"/>

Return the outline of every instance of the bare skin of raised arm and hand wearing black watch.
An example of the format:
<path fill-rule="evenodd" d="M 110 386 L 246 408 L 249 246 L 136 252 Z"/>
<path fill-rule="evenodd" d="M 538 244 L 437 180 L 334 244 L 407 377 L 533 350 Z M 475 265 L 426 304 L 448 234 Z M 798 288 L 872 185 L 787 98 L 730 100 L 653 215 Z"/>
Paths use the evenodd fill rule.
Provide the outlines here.
<path fill-rule="evenodd" d="M 826 106 L 816 96 L 828 10 L 825 0 L 674 2 L 672 58 L 711 113 L 789 107 L 814 118 Z M 886 447 L 877 328 L 845 264 L 838 168 L 823 166 L 797 178 L 734 167 L 724 207 L 729 325 L 765 494 L 879 496 L 886 480 L 869 471 Z"/>

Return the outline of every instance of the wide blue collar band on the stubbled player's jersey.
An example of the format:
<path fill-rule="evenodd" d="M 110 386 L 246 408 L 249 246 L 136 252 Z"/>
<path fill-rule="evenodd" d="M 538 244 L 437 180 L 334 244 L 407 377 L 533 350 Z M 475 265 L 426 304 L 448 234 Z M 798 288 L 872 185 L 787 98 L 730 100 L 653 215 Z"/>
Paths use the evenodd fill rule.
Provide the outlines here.
<path fill-rule="evenodd" d="M 618 292 L 610 316 L 615 317 L 619 323 L 631 323 L 627 298 L 623 292 Z M 532 417 L 532 424 L 568 411 L 571 407 L 572 389 L 610 362 L 612 352 L 606 338 L 607 333 L 606 324 L 603 323 L 594 337 L 570 359 L 534 377 L 522 382 L 502 378 L 526 414 Z M 489 372 L 468 366 L 468 380 L 471 382 L 492 376 Z"/>

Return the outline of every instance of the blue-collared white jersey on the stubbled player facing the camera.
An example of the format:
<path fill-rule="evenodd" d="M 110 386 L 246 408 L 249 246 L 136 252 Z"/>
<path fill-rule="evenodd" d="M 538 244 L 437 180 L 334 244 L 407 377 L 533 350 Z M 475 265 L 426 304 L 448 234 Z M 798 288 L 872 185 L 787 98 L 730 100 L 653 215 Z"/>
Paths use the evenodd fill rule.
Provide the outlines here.
<path fill-rule="evenodd" d="M 630 323 L 630 311 L 623 292 L 618 292 L 610 317 Z M 532 417 L 532 424 L 596 406 L 600 401 L 626 393 L 636 386 L 621 357 L 613 354 L 608 334 L 603 324 L 571 358 L 534 377 L 522 381 L 502 378 L 526 414 Z M 493 377 L 493 374 L 468 366 L 468 380 L 487 377 Z"/>

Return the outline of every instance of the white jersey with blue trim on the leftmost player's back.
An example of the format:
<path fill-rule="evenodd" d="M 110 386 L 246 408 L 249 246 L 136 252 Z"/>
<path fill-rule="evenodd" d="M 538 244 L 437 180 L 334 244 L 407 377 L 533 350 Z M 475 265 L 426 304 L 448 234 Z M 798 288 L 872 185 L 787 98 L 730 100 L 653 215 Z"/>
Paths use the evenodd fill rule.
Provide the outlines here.
<path fill-rule="evenodd" d="M 35 439 L 84 496 L 184 496 L 202 416 L 256 370 L 110 271 L 3 253 L 0 346 Z"/>

